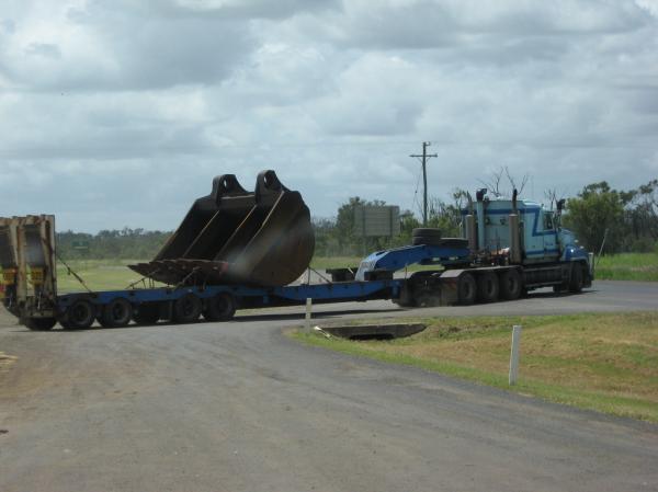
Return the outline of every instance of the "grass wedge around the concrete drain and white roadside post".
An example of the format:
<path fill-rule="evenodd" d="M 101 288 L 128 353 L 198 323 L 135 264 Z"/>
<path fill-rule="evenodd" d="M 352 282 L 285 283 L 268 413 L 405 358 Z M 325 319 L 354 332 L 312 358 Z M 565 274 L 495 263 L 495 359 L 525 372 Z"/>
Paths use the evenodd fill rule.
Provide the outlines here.
<path fill-rule="evenodd" d="M 302 332 L 292 336 L 557 403 L 658 422 L 658 312 L 410 321 L 424 322 L 428 329 L 387 342 Z M 509 387 L 513 324 L 523 325 L 520 380 Z"/>

